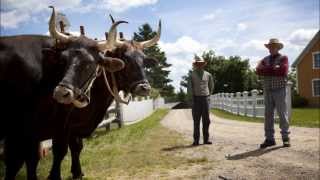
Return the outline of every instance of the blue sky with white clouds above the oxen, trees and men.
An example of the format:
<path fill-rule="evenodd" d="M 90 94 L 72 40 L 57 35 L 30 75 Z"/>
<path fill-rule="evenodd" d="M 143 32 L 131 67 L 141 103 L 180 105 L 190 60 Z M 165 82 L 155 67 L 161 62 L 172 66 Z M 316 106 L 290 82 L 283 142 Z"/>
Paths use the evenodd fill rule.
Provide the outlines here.
<path fill-rule="evenodd" d="M 251 67 L 267 55 L 264 43 L 279 38 L 290 63 L 319 30 L 319 0 L 1 0 L 1 36 L 48 33 L 49 5 L 64 14 L 71 32 L 102 39 L 111 13 L 126 20 L 119 31 L 130 39 L 144 23 L 162 20 L 159 45 L 166 52 L 170 78 L 178 89 L 194 53 L 249 58 Z"/>

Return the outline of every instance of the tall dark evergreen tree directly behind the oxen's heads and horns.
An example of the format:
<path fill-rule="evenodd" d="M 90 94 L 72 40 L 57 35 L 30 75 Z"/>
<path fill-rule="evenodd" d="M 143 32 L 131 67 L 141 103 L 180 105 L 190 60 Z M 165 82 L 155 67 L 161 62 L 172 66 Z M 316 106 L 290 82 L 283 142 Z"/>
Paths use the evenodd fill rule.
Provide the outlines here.
<path fill-rule="evenodd" d="M 138 33 L 134 33 L 133 39 L 136 41 L 145 41 L 153 38 L 155 35 L 156 32 L 152 30 L 149 24 L 143 24 L 139 27 Z M 165 53 L 160 50 L 158 45 L 144 49 L 144 53 L 158 60 L 156 64 L 145 65 L 146 76 L 151 86 L 158 89 L 162 96 L 174 96 L 174 87 L 169 84 L 172 81 L 168 77 L 170 71 L 166 70 L 171 64 L 167 63 Z"/>

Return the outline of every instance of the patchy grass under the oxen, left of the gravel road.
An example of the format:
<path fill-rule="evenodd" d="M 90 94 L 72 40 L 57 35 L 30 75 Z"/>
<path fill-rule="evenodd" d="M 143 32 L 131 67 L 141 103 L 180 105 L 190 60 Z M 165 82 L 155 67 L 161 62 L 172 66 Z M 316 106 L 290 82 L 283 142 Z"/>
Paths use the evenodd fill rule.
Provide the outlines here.
<path fill-rule="evenodd" d="M 95 138 L 86 139 L 81 156 L 85 179 L 145 179 L 158 174 L 166 177 L 169 169 L 182 164 L 201 163 L 205 160 L 186 159 L 165 149 L 189 144 L 183 137 L 160 124 L 169 110 L 160 109 L 145 120 L 106 132 L 99 129 Z M 52 156 L 42 159 L 38 166 L 39 179 L 45 179 L 51 167 Z M 70 154 L 62 164 L 63 179 L 71 177 Z M 0 161 L 0 169 L 3 169 Z M 3 177 L 0 170 L 0 177 Z M 1 178 L 0 178 L 1 179 Z M 25 168 L 20 171 L 19 179 L 25 179 Z"/>

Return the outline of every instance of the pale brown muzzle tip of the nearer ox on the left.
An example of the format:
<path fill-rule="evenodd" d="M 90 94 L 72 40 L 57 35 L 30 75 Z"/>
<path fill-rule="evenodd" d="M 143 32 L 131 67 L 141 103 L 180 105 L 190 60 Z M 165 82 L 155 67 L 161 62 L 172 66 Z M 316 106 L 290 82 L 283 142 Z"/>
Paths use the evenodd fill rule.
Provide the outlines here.
<path fill-rule="evenodd" d="M 54 89 L 53 98 L 59 103 L 71 104 L 74 99 L 74 93 L 67 87 L 57 86 Z"/>

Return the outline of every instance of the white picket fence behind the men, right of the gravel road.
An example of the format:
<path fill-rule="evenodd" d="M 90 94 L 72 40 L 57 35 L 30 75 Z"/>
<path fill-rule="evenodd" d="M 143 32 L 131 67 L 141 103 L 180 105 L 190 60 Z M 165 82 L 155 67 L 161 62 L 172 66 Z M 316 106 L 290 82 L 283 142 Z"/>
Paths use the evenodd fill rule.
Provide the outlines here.
<path fill-rule="evenodd" d="M 291 86 L 292 83 L 288 82 L 286 86 L 286 103 L 289 120 L 291 119 L 292 113 Z M 259 92 L 261 91 L 254 89 L 251 91 L 251 96 L 248 96 L 248 91 L 217 93 L 211 95 L 210 106 L 211 108 L 221 109 L 232 114 L 249 117 L 264 117 L 264 97 L 263 94 L 260 94 Z M 277 116 L 276 113 L 275 116 Z"/>

